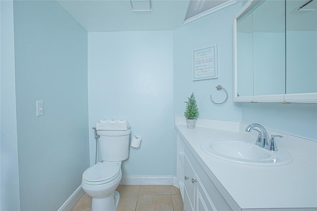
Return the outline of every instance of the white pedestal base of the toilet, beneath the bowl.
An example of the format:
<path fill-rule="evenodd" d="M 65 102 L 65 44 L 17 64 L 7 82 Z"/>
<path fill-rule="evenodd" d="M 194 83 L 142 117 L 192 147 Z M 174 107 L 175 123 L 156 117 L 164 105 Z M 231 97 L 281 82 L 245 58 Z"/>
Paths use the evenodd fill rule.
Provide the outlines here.
<path fill-rule="evenodd" d="M 93 198 L 92 211 L 116 211 L 120 199 L 120 194 L 117 191 L 104 198 Z"/>

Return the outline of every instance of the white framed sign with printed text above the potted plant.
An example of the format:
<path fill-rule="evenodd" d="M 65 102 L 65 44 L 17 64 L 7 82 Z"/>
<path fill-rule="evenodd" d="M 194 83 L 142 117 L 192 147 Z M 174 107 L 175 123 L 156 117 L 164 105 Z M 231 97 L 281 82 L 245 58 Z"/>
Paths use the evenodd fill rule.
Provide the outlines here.
<path fill-rule="evenodd" d="M 217 46 L 193 52 L 193 81 L 218 78 Z"/>

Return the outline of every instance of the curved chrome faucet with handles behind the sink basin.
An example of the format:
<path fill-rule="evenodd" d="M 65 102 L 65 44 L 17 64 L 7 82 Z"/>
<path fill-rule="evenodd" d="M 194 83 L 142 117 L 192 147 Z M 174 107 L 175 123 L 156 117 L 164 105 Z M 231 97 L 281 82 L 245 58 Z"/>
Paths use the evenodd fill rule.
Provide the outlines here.
<path fill-rule="evenodd" d="M 255 127 L 260 128 L 260 130 L 255 129 Z M 278 136 L 278 135 L 271 135 L 271 139 L 268 142 L 269 139 L 269 135 L 267 133 L 267 131 L 265 130 L 265 128 L 258 123 L 253 123 L 248 125 L 248 127 L 246 127 L 246 131 L 247 132 L 251 132 L 252 130 L 255 130 L 259 133 L 257 141 L 256 141 L 256 145 L 258 145 L 259 147 L 265 148 L 267 150 L 270 151 L 277 151 L 277 147 L 276 147 L 276 143 L 275 143 L 275 137 L 276 138 L 283 138 L 283 136 Z"/>

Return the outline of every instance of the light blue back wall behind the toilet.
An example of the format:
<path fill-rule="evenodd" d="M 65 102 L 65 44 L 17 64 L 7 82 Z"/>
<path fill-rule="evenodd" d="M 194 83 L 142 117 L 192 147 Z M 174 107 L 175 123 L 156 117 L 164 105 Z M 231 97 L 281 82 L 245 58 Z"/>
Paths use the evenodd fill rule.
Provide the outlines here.
<path fill-rule="evenodd" d="M 88 33 L 90 161 L 92 127 L 100 119 L 127 119 L 132 136 L 123 175 L 173 174 L 173 32 Z"/>

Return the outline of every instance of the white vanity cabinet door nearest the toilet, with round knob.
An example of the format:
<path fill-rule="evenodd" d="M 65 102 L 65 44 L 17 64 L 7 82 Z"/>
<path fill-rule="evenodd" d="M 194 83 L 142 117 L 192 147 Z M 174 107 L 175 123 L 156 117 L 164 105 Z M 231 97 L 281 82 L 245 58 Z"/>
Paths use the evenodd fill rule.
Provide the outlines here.
<path fill-rule="evenodd" d="M 191 205 L 192 210 L 195 208 L 195 184 L 192 183 L 192 179 L 195 179 L 195 172 L 193 167 L 191 166 L 188 158 L 185 156 L 184 159 L 184 189 L 186 192 L 184 196 L 184 201 L 186 195 L 188 196 L 189 203 Z"/>

